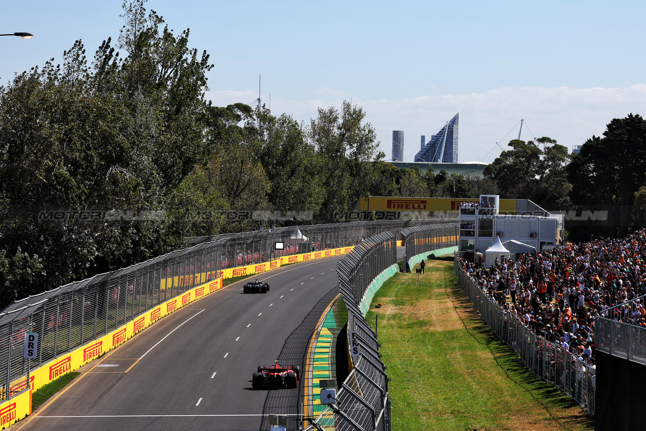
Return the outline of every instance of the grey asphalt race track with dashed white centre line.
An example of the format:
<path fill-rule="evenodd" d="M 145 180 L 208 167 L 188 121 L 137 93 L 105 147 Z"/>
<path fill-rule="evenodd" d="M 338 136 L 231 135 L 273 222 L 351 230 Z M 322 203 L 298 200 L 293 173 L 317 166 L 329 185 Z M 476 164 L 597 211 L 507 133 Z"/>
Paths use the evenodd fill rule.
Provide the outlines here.
<path fill-rule="evenodd" d="M 264 415 L 289 414 L 298 389 L 252 390 L 259 364 L 303 367 L 315 325 L 337 295 L 337 262 L 326 258 L 264 274 L 269 293 L 236 282 L 150 326 L 93 366 L 27 430 L 261 430 Z M 95 364 L 96 363 L 96 364 Z"/>

